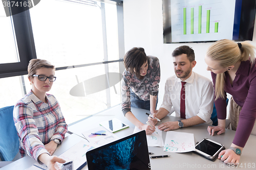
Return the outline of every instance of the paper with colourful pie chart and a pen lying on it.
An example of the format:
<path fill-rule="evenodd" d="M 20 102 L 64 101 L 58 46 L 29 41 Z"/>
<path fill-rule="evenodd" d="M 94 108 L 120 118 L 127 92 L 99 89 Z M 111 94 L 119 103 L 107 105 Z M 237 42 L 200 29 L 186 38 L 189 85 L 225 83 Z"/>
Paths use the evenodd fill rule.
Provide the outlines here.
<path fill-rule="evenodd" d="M 103 133 L 106 135 L 93 135 L 92 133 Z M 117 137 L 114 133 L 106 130 L 102 126 L 87 130 L 86 132 L 83 132 L 82 135 L 86 137 L 87 140 L 90 141 L 90 143 L 98 144 L 100 146 L 119 139 L 119 137 Z"/>

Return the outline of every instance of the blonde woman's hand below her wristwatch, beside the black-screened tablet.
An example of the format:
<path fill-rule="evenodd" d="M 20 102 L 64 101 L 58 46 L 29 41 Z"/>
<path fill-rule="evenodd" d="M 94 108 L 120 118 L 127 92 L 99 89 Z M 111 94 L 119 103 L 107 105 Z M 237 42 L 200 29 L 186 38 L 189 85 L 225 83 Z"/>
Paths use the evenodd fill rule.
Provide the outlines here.
<path fill-rule="evenodd" d="M 240 155 L 234 153 L 233 150 L 227 149 L 220 152 L 218 159 L 221 159 L 224 163 L 233 163 L 234 165 L 238 165 Z"/>

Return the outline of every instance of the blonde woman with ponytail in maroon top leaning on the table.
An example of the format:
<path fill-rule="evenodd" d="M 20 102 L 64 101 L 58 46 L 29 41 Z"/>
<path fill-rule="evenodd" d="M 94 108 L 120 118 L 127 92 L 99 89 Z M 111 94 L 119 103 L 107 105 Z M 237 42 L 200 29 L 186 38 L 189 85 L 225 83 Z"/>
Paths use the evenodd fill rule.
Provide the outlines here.
<path fill-rule="evenodd" d="M 205 56 L 207 70 L 211 71 L 215 87 L 215 106 L 218 115 L 218 126 L 209 126 L 207 129 L 210 135 L 225 132 L 226 93 L 232 95 L 229 115 L 232 128 L 237 131 L 230 148 L 219 154 L 218 158 L 224 163 L 237 165 L 249 135 L 255 134 L 255 49 L 247 41 L 236 43 L 224 39 L 212 44 Z"/>

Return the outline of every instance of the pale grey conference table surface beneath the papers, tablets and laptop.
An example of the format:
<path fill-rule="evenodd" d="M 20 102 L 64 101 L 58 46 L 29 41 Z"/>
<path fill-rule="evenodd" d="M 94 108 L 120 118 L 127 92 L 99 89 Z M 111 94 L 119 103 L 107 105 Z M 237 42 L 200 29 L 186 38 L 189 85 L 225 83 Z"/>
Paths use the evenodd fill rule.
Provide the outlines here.
<path fill-rule="evenodd" d="M 148 110 L 144 109 L 138 109 L 138 108 L 131 108 L 133 114 L 142 122 L 146 123 L 147 121 L 147 115 L 146 112 L 150 112 Z M 175 113 L 173 113 L 175 114 Z M 104 110 L 102 112 L 93 114 L 90 117 L 82 119 L 80 122 L 69 126 L 68 130 L 70 132 L 73 132 L 73 134 L 67 134 L 65 139 L 61 144 L 58 145 L 56 151 L 54 152 L 54 155 L 59 156 L 63 152 L 70 149 L 73 145 L 80 142 L 81 140 L 86 141 L 86 139 L 83 137 L 82 132 L 93 129 L 96 126 L 99 126 L 99 123 L 104 122 L 105 120 L 109 120 L 112 118 L 118 118 L 122 121 L 122 123 L 129 125 L 129 128 L 123 129 L 121 131 L 115 132 L 115 135 L 119 138 L 128 136 L 130 134 L 133 134 L 135 126 L 127 120 L 122 111 L 121 111 L 121 105 L 117 105 L 114 107 L 111 107 L 107 110 Z M 180 120 L 180 117 L 175 117 L 172 115 L 167 115 L 164 117 L 162 122 L 158 122 L 157 125 L 161 125 L 164 122 L 169 121 L 177 121 Z M 186 132 L 186 133 L 193 133 L 195 138 L 195 143 L 198 141 L 201 141 L 203 138 L 209 138 L 211 140 L 214 140 L 216 142 L 219 142 L 225 146 L 225 148 L 229 148 L 230 144 L 233 141 L 234 135 L 236 131 L 232 131 L 229 129 L 226 129 L 226 132 L 214 136 L 209 135 L 207 132 L 207 126 L 206 124 L 199 124 L 192 127 L 187 128 L 181 128 L 174 130 L 176 132 Z M 167 132 L 162 131 L 162 138 L 163 141 L 165 141 L 165 136 Z M 194 152 L 187 152 L 187 153 L 170 153 L 163 151 L 164 147 L 148 147 L 148 152 L 153 152 L 154 154 L 152 156 L 156 155 L 171 155 L 170 157 L 166 158 L 157 158 L 157 159 L 150 159 L 150 167 L 153 170 L 157 169 L 200 169 L 200 168 L 209 168 L 209 169 L 255 169 L 256 167 L 256 136 L 250 135 L 245 148 L 243 149 L 242 156 L 240 159 L 240 163 L 238 166 L 232 166 L 229 164 L 223 163 L 220 159 L 216 159 L 215 161 L 208 160 Z M 5 169 L 26 169 L 32 166 L 34 163 L 37 163 L 33 158 L 26 156 L 24 158 L 21 158 L 7 166 L 4 166 L 3 170 Z M 87 165 L 84 166 L 82 169 L 88 169 Z"/>

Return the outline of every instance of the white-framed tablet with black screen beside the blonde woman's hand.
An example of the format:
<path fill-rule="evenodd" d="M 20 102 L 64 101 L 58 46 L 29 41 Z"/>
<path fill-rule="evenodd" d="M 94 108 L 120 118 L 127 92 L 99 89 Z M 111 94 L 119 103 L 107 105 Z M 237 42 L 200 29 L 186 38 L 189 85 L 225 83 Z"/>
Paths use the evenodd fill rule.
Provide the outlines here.
<path fill-rule="evenodd" d="M 225 150 L 223 144 L 208 138 L 204 138 L 196 144 L 195 152 L 201 156 L 204 156 L 207 159 L 214 161 L 222 150 Z"/>

